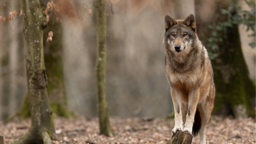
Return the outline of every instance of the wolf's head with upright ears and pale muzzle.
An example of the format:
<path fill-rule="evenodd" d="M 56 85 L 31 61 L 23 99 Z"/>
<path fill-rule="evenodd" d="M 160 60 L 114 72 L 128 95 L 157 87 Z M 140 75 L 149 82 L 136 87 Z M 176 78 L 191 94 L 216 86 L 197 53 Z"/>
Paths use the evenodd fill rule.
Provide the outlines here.
<path fill-rule="evenodd" d="M 165 29 L 163 44 L 166 49 L 175 55 L 190 52 L 197 38 L 193 14 L 190 14 L 185 20 L 174 20 L 169 15 L 166 15 Z"/>

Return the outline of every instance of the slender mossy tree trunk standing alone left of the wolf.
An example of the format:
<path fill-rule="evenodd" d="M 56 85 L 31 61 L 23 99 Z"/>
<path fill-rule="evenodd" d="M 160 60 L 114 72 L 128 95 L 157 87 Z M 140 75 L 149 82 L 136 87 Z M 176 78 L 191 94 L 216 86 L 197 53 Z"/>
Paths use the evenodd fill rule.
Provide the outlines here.
<path fill-rule="evenodd" d="M 105 0 L 96 1 L 96 27 L 97 27 L 97 55 L 96 55 L 96 84 L 97 84 L 97 100 L 98 100 L 98 116 L 100 134 L 112 136 L 108 115 L 108 101 L 106 96 L 106 9 Z"/>

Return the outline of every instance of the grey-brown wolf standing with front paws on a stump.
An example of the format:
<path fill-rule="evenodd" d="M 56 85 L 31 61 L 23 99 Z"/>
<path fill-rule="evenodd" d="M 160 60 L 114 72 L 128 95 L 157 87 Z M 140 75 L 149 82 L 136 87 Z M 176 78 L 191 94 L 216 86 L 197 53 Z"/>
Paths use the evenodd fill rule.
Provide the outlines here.
<path fill-rule="evenodd" d="M 175 111 L 172 130 L 200 133 L 200 144 L 205 144 L 206 125 L 215 97 L 212 65 L 207 49 L 198 39 L 195 17 L 185 20 L 165 16 L 163 38 L 166 77 L 170 84 Z"/>

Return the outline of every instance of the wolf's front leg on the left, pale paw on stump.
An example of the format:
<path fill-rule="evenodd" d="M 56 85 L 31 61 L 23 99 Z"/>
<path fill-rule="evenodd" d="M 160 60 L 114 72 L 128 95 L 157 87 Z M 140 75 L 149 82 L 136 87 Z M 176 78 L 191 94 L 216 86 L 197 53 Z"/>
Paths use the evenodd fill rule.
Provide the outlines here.
<path fill-rule="evenodd" d="M 175 127 L 172 130 L 173 133 L 176 133 L 177 130 L 183 131 L 183 121 L 182 121 L 182 113 L 181 113 L 181 95 L 180 92 L 177 91 L 174 87 L 171 87 L 171 95 L 172 95 L 172 102 L 174 106 L 174 120 L 175 120 Z"/>

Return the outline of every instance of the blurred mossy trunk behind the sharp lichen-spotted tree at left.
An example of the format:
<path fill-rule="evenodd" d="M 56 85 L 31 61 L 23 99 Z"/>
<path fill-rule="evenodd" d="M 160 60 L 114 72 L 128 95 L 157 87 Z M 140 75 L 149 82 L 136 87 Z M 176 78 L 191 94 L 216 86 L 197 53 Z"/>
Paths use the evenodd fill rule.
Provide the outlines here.
<path fill-rule="evenodd" d="M 46 6 L 46 3 L 41 3 L 41 6 Z M 49 22 L 44 29 L 44 59 L 45 67 L 48 75 L 48 96 L 52 112 L 58 116 L 70 117 L 72 112 L 68 108 L 67 95 L 64 83 L 63 72 L 63 46 L 62 46 L 62 24 L 56 20 L 58 14 L 54 11 L 50 12 Z M 53 32 L 53 40 L 47 42 L 48 32 Z M 27 97 L 25 95 L 24 101 L 20 110 L 15 114 L 21 120 L 30 116 Z"/>

